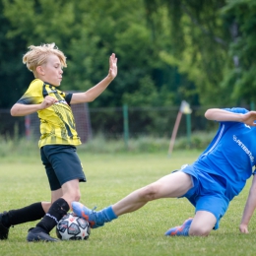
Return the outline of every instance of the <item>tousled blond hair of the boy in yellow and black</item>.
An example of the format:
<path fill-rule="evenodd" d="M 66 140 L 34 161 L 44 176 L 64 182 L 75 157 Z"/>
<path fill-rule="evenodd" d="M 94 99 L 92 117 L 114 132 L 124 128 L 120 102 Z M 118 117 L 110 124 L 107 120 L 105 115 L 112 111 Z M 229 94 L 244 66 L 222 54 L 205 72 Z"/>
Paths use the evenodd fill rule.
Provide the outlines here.
<path fill-rule="evenodd" d="M 66 56 L 54 42 L 44 43 L 39 46 L 31 45 L 29 49 L 23 57 L 23 63 L 27 64 L 27 68 L 32 72 L 35 71 L 36 67 L 46 63 L 47 57 L 51 54 L 55 54 L 59 58 L 62 67 L 67 67 Z"/>

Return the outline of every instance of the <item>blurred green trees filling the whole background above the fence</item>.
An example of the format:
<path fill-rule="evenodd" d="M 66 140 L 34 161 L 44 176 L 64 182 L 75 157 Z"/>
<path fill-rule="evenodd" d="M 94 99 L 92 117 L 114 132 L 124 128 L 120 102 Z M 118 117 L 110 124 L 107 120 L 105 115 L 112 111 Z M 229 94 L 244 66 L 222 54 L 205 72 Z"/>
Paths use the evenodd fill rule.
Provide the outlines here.
<path fill-rule="evenodd" d="M 116 53 L 118 76 L 93 106 L 179 105 L 182 99 L 192 105 L 248 104 L 256 89 L 255 5 L 0 0 L 0 106 L 10 107 L 32 81 L 22 64 L 28 46 L 52 41 L 68 57 L 65 91 L 96 85 Z"/>

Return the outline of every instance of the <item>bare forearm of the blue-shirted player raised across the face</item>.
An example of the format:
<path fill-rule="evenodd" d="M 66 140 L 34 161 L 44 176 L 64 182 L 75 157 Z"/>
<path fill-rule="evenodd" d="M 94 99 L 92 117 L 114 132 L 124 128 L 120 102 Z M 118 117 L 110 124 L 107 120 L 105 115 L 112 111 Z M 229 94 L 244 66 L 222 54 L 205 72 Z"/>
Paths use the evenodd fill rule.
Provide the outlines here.
<path fill-rule="evenodd" d="M 256 111 L 242 114 L 229 112 L 221 108 L 210 108 L 205 112 L 205 117 L 209 120 L 241 122 L 250 126 L 256 126 Z"/>

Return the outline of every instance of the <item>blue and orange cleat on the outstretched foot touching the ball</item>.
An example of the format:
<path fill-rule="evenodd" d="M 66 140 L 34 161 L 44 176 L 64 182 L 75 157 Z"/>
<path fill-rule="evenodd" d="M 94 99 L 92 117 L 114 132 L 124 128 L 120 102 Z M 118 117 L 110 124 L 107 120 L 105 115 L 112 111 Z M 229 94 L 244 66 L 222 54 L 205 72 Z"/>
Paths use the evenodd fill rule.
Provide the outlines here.
<path fill-rule="evenodd" d="M 96 211 L 87 208 L 79 202 L 72 203 L 72 209 L 76 216 L 87 220 L 92 228 L 104 225 L 104 221 L 98 217 Z"/>

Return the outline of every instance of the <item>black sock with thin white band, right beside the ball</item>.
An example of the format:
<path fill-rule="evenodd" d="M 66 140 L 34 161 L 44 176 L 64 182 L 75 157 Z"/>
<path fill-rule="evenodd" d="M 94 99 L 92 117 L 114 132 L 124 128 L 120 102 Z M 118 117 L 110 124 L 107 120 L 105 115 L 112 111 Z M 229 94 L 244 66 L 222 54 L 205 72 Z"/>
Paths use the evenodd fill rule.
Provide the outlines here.
<path fill-rule="evenodd" d="M 48 213 L 36 224 L 36 227 L 43 228 L 47 233 L 67 214 L 69 205 L 63 198 L 56 200 L 50 207 Z"/>

